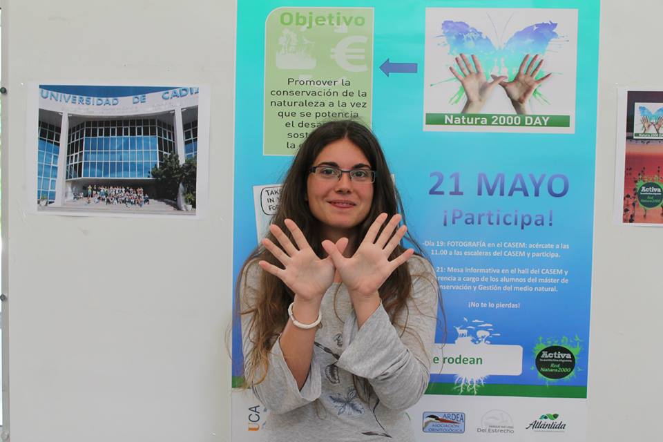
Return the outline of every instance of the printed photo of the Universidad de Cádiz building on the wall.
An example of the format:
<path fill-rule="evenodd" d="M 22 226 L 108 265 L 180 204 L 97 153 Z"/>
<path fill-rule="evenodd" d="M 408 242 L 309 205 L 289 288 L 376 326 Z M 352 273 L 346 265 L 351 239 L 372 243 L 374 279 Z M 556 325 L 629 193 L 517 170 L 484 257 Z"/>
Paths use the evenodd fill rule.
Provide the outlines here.
<path fill-rule="evenodd" d="M 206 88 L 30 88 L 30 211 L 185 219 L 204 213 L 209 168 Z"/>

